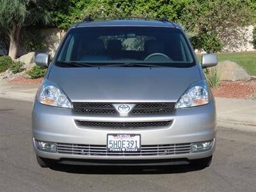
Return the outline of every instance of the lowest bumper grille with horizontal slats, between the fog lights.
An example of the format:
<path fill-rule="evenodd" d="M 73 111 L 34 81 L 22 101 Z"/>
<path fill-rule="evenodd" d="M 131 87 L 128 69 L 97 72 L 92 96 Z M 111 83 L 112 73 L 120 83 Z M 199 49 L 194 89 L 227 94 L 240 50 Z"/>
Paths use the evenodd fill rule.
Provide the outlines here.
<path fill-rule="evenodd" d="M 191 152 L 191 143 L 142 145 L 140 152 L 108 152 L 106 145 L 57 143 L 56 147 L 59 154 L 80 156 L 168 156 L 189 154 Z"/>

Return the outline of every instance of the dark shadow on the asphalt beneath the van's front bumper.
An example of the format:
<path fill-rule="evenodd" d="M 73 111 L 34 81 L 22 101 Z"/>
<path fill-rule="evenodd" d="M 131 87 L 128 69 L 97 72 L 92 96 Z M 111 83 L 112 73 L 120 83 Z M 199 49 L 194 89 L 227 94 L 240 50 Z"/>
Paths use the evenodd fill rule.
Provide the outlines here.
<path fill-rule="evenodd" d="M 191 164 L 171 166 L 77 166 L 69 164 L 56 164 L 50 167 L 58 172 L 93 174 L 93 175 L 143 175 L 143 174 L 172 174 L 203 170 L 204 167 Z"/>

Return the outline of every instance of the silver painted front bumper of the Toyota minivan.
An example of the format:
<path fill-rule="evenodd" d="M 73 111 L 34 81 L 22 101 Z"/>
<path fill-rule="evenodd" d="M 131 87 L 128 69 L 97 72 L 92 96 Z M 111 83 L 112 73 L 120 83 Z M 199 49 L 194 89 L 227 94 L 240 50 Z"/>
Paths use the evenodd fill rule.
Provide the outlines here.
<path fill-rule="evenodd" d="M 72 112 L 72 109 L 56 108 L 45 106 L 35 102 L 33 108 L 33 145 L 37 156 L 47 159 L 56 159 L 60 163 L 72 162 L 70 159 L 81 164 L 86 161 L 172 161 L 173 159 L 202 159 L 212 155 L 215 149 L 216 137 L 216 113 L 214 101 L 204 106 L 194 108 L 177 109 L 170 115 L 136 115 L 136 116 L 117 116 L 117 115 L 84 115 Z M 152 121 L 172 121 L 172 124 L 167 127 L 156 129 L 109 129 L 109 128 L 90 128 L 79 127 L 75 120 L 94 121 L 94 122 L 152 122 Z M 103 154 L 88 154 L 88 153 L 68 153 L 61 152 L 46 152 L 39 150 L 35 145 L 35 140 L 57 143 L 57 145 L 68 145 L 80 147 L 106 147 L 107 134 L 141 134 L 141 147 L 148 146 L 177 146 L 187 147 L 192 143 L 200 141 L 212 141 L 211 148 L 204 152 L 189 152 L 184 153 L 168 153 L 161 155 L 140 154 L 131 155 L 113 155 L 108 152 Z M 74 147 L 76 150 L 76 147 Z M 72 148 L 73 149 L 73 148 Z M 67 161 L 68 159 L 68 161 Z M 183 162 L 183 160 L 181 162 Z M 131 161 L 131 162 L 132 162 Z M 79 163 L 80 162 L 80 163 Z"/>

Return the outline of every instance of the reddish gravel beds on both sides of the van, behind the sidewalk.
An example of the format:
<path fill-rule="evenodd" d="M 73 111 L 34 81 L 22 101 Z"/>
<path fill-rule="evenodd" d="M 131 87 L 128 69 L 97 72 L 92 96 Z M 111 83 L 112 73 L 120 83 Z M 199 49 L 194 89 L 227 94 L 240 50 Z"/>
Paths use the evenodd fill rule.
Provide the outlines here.
<path fill-rule="evenodd" d="M 40 84 L 43 78 L 29 79 L 24 76 L 10 80 L 11 83 Z M 215 97 L 256 99 L 256 79 L 251 81 L 223 81 L 218 88 L 212 90 Z"/>

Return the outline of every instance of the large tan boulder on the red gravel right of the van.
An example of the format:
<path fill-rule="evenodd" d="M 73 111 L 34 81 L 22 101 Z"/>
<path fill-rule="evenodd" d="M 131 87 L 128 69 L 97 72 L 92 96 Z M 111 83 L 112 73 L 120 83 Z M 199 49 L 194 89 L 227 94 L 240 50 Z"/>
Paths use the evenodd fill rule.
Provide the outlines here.
<path fill-rule="evenodd" d="M 240 65 L 233 61 L 221 61 L 218 63 L 221 81 L 248 81 L 251 76 Z"/>

